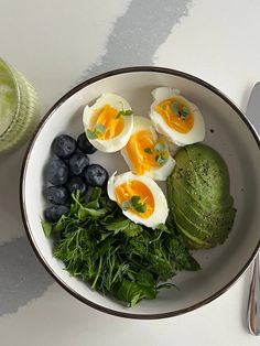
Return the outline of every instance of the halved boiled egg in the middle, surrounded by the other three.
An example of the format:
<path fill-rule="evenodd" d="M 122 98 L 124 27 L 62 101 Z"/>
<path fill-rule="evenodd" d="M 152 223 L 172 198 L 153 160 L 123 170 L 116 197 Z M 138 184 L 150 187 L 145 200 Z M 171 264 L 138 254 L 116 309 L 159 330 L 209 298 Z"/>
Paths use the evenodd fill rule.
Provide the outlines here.
<path fill-rule="evenodd" d="M 175 164 L 165 140 L 158 138 L 152 121 L 144 117 L 133 117 L 132 133 L 121 154 L 134 174 L 158 181 L 165 181 Z"/>

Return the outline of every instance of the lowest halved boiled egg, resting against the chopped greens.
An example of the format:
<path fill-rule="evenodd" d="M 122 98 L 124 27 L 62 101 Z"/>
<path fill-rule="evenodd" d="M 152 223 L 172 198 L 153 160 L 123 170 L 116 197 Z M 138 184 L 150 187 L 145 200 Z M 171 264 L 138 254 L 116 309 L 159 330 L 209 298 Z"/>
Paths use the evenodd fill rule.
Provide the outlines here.
<path fill-rule="evenodd" d="M 108 181 L 108 196 L 133 223 L 156 228 L 169 214 L 167 202 L 159 185 L 149 176 L 132 172 L 112 174 Z"/>

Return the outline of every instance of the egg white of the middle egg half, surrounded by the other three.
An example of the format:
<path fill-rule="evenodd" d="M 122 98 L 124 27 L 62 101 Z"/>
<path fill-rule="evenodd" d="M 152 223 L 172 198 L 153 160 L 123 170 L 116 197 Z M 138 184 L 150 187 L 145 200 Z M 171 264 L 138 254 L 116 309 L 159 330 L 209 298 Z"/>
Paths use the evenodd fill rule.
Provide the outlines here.
<path fill-rule="evenodd" d="M 152 134 L 152 139 L 154 142 L 158 141 L 158 134 L 152 125 L 152 121 L 149 118 L 134 116 L 133 117 L 133 129 L 132 134 L 140 132 L 140 131 L 149 131 Z M 126 148 L 121 150 L 121 154 L 127 162 L 129 169 L 134 172 L 134 165 L 132 164 L 131 160 L 128 156 Z M 152 177 L 155 181 L 165 181 L 167 176 L 172 173 L 172 170 L 174 169 L 175 160 L 169 154 L 167 161 L 162 165 L 158 167 L 151 167 L 149 171 L 144 172 L 144 175 Z"/>

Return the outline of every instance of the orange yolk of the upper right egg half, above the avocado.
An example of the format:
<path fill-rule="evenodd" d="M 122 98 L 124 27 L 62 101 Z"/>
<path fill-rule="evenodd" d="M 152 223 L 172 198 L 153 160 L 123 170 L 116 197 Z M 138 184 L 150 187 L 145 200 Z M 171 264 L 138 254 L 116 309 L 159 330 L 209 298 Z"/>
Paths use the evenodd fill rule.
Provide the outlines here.
<path fill-rule="evenodd" d="M 175 113 L 171 105 L 176 102 L 178 105 L 178 110 L 182 111 L 183 108 L 188 110 L 188 113 L 186 117 L 182 117 L 178 113 Z M 181 133 L 187 133 L 192 130 L 194 126 L 194 115 L 189 111 L 189 107 L 184 104 L 183 101 L 180 101 L 178 98 L 169 98 L 166 100 L 163 100 L 158 106 L 154 107 L 156 112 L 160 113 L 160 116 L 163 118 L 163 120 L 166 122 L 166 125 Z"/>

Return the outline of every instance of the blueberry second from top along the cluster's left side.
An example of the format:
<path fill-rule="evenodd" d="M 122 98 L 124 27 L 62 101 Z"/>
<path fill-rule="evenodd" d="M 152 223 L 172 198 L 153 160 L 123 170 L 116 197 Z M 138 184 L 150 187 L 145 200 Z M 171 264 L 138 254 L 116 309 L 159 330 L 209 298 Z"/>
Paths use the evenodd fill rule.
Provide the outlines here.
<path fill-rule="evenodd" d="M 68 179 L 68 167 L 61 159 L 53 159 L 46 167 L 47 181 L 53 185 L 63 185 Z"/>

